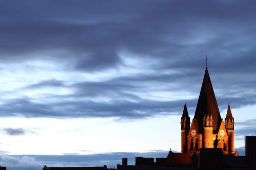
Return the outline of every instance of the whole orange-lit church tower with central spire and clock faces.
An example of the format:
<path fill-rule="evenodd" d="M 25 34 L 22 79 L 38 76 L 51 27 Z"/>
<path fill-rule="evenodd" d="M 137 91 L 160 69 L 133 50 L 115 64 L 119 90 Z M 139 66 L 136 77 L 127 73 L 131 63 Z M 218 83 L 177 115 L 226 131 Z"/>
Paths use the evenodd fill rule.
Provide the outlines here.
<path fill-rule="evenodd" d="M 217 139 L 217 140 L 216 140 Z M 234 118 L 228 104 L 225 122 L 221 118 L 214 89 L 206 67 L 197 103 L 191 122 L 186 104 L 181 117 L 181 153 L 195 153 L 201 148 L 221 148 L 224 154 L 234 154 Z"/>

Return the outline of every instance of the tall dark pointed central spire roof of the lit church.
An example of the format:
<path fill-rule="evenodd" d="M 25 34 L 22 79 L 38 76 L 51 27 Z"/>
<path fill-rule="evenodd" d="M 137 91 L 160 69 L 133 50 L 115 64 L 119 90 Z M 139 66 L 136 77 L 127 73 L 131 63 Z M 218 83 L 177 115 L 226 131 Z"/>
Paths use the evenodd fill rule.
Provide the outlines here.
<path fill-rule="evenodd" d="M 221 115 L 215 98 L 214 89 L 212 88 L 208 69 L 206 67 L 204 79 L 197 103 L 194 118 L 197 119 L 199 125 L 199 133 L 203 131 L 204 114 L 212 115 L 212 130 L 217 131 L 221 124 Z"/>

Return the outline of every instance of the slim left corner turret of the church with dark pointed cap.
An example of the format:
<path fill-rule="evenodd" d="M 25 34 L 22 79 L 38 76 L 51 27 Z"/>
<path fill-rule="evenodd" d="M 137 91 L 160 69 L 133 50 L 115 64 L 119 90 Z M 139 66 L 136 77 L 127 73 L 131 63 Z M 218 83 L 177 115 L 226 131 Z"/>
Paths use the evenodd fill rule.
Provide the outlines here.
<path fill-rule="evenodd" d="M 182 117 L 180 118 L 181 126 L 181 153 L 187 153 L 187 134 L 190 127 L 190 117 L 188 116 L 186 103 L 184 105 Z"/>

